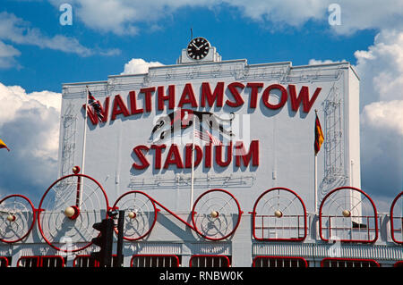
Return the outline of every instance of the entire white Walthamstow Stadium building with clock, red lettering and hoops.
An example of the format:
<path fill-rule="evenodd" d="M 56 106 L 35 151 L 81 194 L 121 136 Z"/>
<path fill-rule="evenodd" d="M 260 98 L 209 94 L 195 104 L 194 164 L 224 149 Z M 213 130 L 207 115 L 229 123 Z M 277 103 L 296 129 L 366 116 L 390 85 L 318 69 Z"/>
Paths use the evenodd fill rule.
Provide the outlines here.
<path fill-rule="evenodd" d="M 350 63 L 224 61 L 205 38 L 64 84 L 59 178 L 39 205 L 2 197 L 0 265 L 95 266 L 111 210 L 124 267 L 401 265 L 403 192 L 378 213 L 360 185 L 359 84 Z"/>

